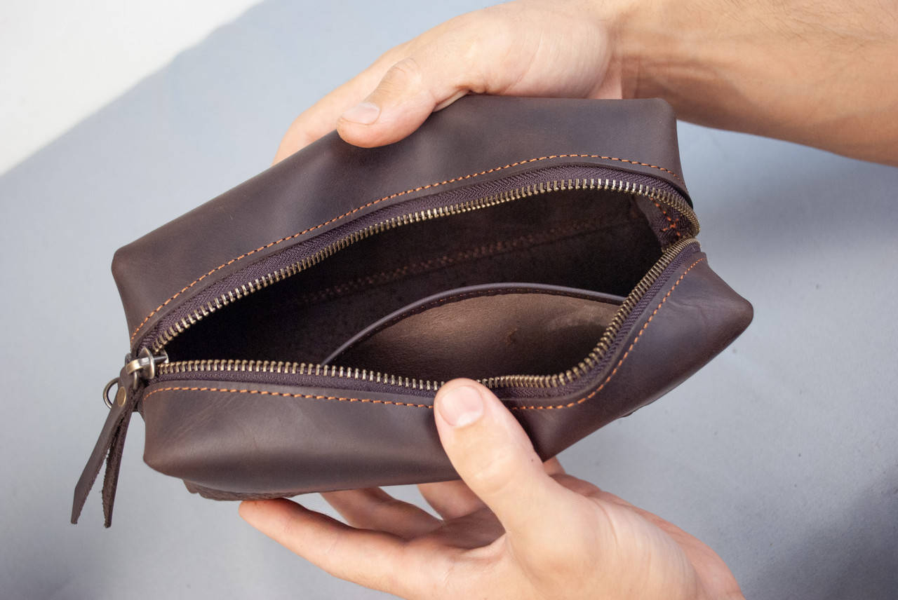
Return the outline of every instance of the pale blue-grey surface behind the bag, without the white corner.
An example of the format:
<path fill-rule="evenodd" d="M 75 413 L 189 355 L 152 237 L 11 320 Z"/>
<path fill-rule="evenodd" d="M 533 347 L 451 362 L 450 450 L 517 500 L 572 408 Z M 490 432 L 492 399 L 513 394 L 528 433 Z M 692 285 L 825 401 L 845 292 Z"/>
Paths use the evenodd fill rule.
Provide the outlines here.
<path fill-rule="evenodd" d="M 102 528 L 97 491 L 68 525 L 71 494 L 128 345 L 113 251 L 264 169 L 292 118 L 383 50 L 480 5 L 261 4 L 0 178 L 2 596 L 383 596 L 152 472 L 139 418 L 115 525 Z M 754 323 L 562 461 L 709 543 L 749 597 L 894 598 L 898 170 L 680 135 L 703 247 Z"/>

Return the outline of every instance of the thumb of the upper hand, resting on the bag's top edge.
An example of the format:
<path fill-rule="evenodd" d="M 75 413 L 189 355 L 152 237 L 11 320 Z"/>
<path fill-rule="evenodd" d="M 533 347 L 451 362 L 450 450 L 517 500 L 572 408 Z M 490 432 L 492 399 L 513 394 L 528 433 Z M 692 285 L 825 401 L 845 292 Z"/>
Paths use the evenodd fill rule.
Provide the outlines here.
<path fill-rule="evenodd" d="M 372 148 L 398 142 L 420 126 L 434 110 L 465 95 L 457 65 L 406 57 L 392 65 L 371 94 L 347 109 L 337 131 L 348 143 Z"/>

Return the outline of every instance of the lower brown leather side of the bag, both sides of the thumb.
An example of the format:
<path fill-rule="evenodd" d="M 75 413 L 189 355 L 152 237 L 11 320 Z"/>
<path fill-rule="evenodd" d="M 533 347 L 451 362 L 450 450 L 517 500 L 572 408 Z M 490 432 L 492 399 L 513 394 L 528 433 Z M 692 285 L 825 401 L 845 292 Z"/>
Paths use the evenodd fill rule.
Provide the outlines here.
<path fill-rule="evenodd" d="M 751 305 L 696 253 L 621 332 L 591 387 L 506 404 L 540 455 L 553 456 L 681 383 L 751 318 Z M 431 397 L 167 381 L 147 388 L 143 414 L 146 463 L 210 490 L 292 495 L 455 476 Z"/>

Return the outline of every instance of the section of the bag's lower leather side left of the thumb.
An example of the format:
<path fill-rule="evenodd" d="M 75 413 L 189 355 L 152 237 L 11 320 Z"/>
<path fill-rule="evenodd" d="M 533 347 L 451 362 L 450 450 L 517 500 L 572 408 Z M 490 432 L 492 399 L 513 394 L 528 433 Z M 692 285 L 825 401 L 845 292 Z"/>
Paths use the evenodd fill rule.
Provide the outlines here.
<path fill-rule="evenodd" d="M 167 382 L 147 390 L 144 460 L 157 471 L 260 496 L 455 476 L 436 436 L 432 399 L 200 386 L 165 390 L 196 387 Z M 240 391 L 250 388 L 265 393 Z"/>

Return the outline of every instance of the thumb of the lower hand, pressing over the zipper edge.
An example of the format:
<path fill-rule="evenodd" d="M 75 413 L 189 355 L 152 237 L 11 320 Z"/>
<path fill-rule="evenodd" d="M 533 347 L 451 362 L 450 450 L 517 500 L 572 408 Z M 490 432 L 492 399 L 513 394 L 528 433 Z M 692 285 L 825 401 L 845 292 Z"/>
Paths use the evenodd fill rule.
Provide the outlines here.
<path fill-rule="evenodd" d="M 558 516 L 576 512 L 566 510 L 574 494 L 546 474 L 520 423 L 497 397 L 471 379 L 454 379 L 436 393 L 435 408 L 446 455 L 509 537 L 529 547 L 557 538 Z"/>

